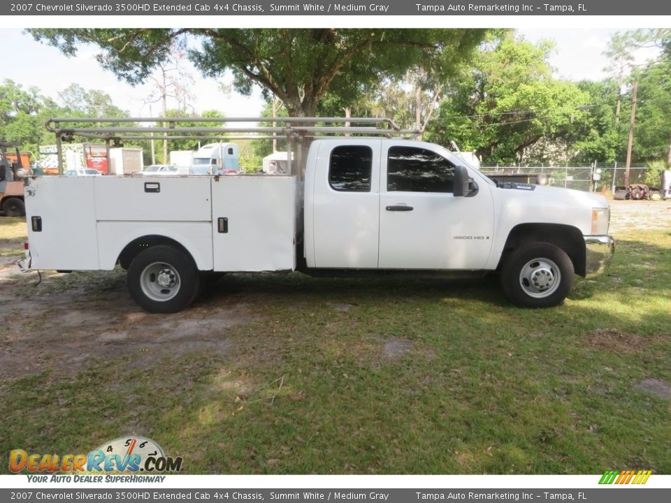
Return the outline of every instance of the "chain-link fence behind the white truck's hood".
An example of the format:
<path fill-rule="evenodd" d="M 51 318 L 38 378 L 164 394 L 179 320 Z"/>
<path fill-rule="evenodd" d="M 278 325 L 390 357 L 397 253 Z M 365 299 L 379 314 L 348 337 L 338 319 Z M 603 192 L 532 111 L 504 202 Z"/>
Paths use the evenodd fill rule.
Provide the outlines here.
<path fill-rule="evenodd" d="M 633 164 L 629 168 L 629 183 L 644 183 L 646 166 Z M 600 163 L 582 166 L 499 166 L 483 163 L 480 170 L 485 175 L 546 175 L 547 185 L 582 191 L 615 191 L 624 187 L 624 163 Z"/>

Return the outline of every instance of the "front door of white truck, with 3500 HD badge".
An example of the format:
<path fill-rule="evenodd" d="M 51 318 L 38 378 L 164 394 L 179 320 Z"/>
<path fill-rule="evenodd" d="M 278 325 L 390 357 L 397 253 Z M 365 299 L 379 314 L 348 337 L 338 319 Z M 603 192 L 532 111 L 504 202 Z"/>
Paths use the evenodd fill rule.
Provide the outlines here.
<path fill-rule="evenodd" d="M 484 268 L 493 234 L 489 184 L 480 180 L 475 196 L 454 197 L 447 156 L 430 143 L 384 140 L 380 268 Z"/>

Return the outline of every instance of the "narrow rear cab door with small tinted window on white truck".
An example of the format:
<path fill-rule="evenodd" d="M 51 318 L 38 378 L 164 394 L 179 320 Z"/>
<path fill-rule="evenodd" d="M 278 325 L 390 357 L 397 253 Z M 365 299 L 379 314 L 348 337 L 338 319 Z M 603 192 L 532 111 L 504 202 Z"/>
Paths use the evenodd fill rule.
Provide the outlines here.
<path fill-rule="evenodd" d="M 321 140 L 316 156 L 310 153 L 312 168 L 305 177 L 309 267 L 377 268 L 381 143 L 370 138 Z"/>

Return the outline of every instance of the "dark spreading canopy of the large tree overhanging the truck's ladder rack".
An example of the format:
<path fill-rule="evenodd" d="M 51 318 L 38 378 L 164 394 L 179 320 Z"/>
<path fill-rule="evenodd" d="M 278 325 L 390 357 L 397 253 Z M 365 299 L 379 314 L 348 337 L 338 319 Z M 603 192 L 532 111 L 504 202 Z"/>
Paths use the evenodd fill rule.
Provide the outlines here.
<path fill-rule="evenodd" d="M 450 75 L 482 41 L 483 29 L 30 29 L 38 41 L 74 55 L 97 45 L 98 61 L 119 78 L 145 81 L 171 53 L 187 50 L 204 75 L 231 70 L 234 87 L 250 94 L 261 86 L 290 115 L 312 117 L 330 92 L 356 99 L 384 78 L 421 64 L 434 78 Z"/>

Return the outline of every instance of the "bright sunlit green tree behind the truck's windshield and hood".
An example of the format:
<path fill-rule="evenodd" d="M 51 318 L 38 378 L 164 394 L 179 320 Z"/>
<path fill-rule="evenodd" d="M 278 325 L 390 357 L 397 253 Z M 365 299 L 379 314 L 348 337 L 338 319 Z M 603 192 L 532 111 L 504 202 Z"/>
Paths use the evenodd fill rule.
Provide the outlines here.
<path fill-rule="evenodd" d="M 547 63 L 551 43 L 528 43 L 512 33 L 491 36 L 470 71 L 452 80 L 428 129 L 431 140 L 475 150 L 484 161 L 564 158 L 563 138 L 589 94 L 556 80 Z M 533 150 L 543 143 L 544 149 Z"/>

